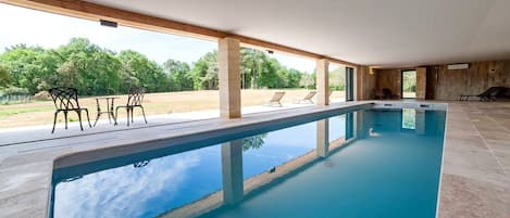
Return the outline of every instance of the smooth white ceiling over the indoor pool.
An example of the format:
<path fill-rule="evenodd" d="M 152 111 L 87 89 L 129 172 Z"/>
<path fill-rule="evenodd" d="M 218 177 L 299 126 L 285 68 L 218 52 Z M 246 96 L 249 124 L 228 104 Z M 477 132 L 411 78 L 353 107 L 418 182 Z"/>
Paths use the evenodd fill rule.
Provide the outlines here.
<path fill-rule="evenodd" d="M 345 61 L 510 59 L 510 0 L 88 0 Z"/>

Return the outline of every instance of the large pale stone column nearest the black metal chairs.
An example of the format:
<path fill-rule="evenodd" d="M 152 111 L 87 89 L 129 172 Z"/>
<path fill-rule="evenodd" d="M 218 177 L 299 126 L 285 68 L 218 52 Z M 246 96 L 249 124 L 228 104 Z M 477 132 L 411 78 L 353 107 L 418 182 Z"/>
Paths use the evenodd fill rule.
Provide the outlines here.
<path fill-rule="evenodd" d="M 240 118 L 240 46 L 239 40 L 219 40 L 220 117 Z"/>

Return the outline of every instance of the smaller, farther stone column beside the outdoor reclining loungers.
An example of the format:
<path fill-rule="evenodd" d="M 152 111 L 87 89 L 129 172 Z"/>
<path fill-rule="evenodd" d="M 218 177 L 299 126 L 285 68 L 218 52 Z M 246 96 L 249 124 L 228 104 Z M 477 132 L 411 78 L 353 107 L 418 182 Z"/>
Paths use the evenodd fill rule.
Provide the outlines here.
<path fill-rule="evenodd" d="M 318 90 L 316 104 L 320 106 L 329 105 L 329 78 L 327 60 L 321 59 L 316 61 L 315 80 Z"/>

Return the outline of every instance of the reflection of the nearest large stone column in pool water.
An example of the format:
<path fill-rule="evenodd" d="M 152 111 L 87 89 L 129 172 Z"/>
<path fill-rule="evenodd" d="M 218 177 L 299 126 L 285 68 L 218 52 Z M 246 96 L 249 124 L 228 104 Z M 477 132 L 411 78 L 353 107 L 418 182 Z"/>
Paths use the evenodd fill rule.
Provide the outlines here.
<path fill-rule="evenodd" d="M 223 202 L 234 205 L 242 201 L 242 140 L 222 144 Z"/>

